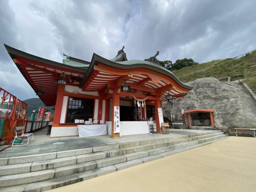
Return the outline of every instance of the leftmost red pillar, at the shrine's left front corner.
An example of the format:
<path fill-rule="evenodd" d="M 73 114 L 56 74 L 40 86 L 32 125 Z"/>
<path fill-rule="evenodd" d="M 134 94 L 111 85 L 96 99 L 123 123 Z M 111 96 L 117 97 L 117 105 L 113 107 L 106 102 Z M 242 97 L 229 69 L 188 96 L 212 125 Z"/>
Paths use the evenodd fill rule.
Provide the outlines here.
<path fill-rule="evenodd" d="M 58 87 L 58 93 L 57 93 L 57 99 L 55 104 L 55 112 L 54 112 L 54 118 L 53 118 L 53 127 L 58 126 L 60 122 L 60 115 L 61 115 L 61 109 L 62 109 L 62 102 L 63 102 L 63 92 L 65 90 L 65 85 L 59 84 Z"/>

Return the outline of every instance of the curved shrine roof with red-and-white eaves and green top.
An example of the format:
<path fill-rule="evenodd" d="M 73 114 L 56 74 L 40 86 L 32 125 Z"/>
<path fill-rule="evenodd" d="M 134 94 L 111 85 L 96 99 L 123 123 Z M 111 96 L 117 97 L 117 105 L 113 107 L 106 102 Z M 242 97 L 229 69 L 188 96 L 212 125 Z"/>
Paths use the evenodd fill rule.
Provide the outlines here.
<path fill-rule="evenodd" d="M 161 93 L 163 100 L 166 100 L 167 94 L 173 95 L 174 98 L 183 97 L 192 89 L 192 87 L 183 84 L 172 72 L 157 63 L 156 56 L 159 52 L 149 59 L 127 60 L 123 47 L 112 59 L 106 59 L 94 53 L 91 62 L 89 62 L 65 55 L 67 58 L 63 59 L 63 63 L 60 63 L 31 55 L 7 45 L 5 47 L 33 90 L 44 92 L 39 97 L 46 105 L 54 105 L 56 102 L 57 79 L 60 78 L 61 74 L 65 75 L 68 80 L 67 84 L 79 85 L 82 90 L 100 91 L 106 89 L 109 82 L 125 80 L 131 84 L 131 88 L 133 88 L 131 91 L 137 93 L 136 90 L 138 90 L 145 95 L 151 92 L 154 94 Z M 101 71 L 102 67 L 111 70 Z M 119 71 L 119 73 L 114 73 L 114 71 Z M 133 76 L 130 72 L 133 73 Z"/>

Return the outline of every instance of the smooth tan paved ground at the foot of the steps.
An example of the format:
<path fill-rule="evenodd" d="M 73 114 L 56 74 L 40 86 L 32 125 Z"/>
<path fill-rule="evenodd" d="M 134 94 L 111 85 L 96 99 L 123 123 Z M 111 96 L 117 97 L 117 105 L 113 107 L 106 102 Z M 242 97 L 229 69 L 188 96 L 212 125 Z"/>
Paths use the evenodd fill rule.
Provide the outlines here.
<path fill-rule="evenodd" d="M 50 191 L 256 191 L 255 146 L 255 138 L 229 137 Z"/>

